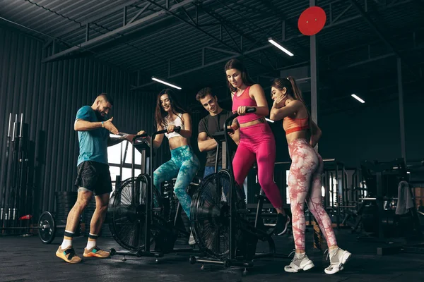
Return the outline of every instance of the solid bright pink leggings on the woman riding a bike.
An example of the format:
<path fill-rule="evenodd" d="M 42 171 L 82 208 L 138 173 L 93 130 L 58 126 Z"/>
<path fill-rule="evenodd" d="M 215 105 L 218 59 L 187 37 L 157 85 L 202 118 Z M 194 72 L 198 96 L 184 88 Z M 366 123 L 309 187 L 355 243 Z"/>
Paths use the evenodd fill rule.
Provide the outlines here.
<path fill-rule="evenodd" d="M 283 199 L 278 186 L 273 182 L 276 140 L 268 123 L 240 128 L 240 144 L 232 159 L 235 182 L 238 185 L 243 185 L 255 159 L 258 164 L 259 185 L 273 207 L 282 209 Z"/>

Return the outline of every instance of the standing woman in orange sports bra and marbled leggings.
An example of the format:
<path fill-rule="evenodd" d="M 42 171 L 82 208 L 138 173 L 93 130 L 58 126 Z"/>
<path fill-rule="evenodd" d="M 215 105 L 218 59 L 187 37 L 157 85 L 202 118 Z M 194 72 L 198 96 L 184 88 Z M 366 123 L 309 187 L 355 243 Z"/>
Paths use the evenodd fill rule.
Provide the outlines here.
<path fill-rule="evenodd" d="M 292 212 L 295 257 L 284 267 L 287 272 L 308 270 L 314 263 L 305 254 L 305 201 L 310 212 L 317 219 L 319 228 L 329 247 L 330 266 L 324 271 L 335 274 L 343 269 L 343 264 L 351 253 L 337 246 L 336 236 L 331 227 L 331 219 L 322 206 L 321 175 L 324 169 L 322 157 L 315 152 L 322 132 L 311 120 L 305 101 L 293 77 L 277 78 L 271 87 L 273 105 L 270 118 L 283 119 L 283 128 L 288 143 L 292 163 L 288 174 L 288 192 Z"/>

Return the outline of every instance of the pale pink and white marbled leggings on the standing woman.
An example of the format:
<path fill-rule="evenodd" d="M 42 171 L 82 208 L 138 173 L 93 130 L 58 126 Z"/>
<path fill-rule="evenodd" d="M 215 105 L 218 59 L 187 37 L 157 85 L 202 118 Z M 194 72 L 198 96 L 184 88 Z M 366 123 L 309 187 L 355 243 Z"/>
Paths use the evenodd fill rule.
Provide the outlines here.
<path fill-rule="evenodd" d="M 305 250 L 305 200 L 310 212 L 317 219 L 327 246 L 337 245 L 331 219 L 322 206 L 321 175 L 324 170 L 322 157 L 305 139 L 290 142 L 288 152 L 292 159 L 288 174 L 288 192 L 296 249 Z"/>

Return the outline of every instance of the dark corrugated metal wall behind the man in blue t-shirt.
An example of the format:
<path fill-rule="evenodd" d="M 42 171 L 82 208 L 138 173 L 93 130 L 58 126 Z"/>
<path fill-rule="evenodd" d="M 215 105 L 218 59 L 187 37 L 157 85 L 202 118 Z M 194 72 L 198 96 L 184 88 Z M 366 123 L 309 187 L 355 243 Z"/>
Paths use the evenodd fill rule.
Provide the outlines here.
<path fill-rule="evenodd" d="M 54 192 L 75 190 L 78 136 L 76 111 L 91 105 L 96 94 L 114 97 L 114 124 L 122 132 L 153 125 L 152 94 L 129 91 L 129 75 L 93 59 L 42 63 L 49 49 L 44 42 L 0 26 L 0 195 L 4 183 L 9 113 L 23 113 L 28 124 L 30 185 L 35 189 L 35 216 L 54 209 Z M 8 166 L 11 158 L 9 157 Z M 10 172 L 10 169 L 8 169 Z"/>

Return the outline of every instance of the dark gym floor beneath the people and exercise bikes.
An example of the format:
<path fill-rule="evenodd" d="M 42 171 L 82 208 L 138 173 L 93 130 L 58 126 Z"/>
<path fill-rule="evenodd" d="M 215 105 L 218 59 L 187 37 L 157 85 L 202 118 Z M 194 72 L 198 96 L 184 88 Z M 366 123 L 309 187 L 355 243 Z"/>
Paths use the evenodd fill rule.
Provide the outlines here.
<path fill-rule="evenodd" d="M 37 236 L 0 238 L 0 281 L 424 281 L 424 254 L 377 255 L 377 243 L 358 243 L 358 235 L 348 230 L 336 231 L 341 247 L 352 252 L 352 259 L 338 274 L 326 275 L 329 265 L 323 252 L 308 255 L 315 267 L 299 274 L 288 274 L 283 266 L 288 259 L 258 259 L 246 276 L 238 267 L 189 264 L 189 255 L 165 255 L 158 263 L 146 257 L 114 256 L 110 259 L 83 258 L 81 264 L 67 264 L 58 259 L 56 252 L 61 238 L 51 245 L 43 245 Z M 307 233 L 307 246 L 312 246 L 312 232 Z M 82 255 L 86 238 L 74 239 L 74 248 Z M 289 254 L 293 250 L 293 237 L 275 238 L 278 252 Z M 101 238 L 98 245 L 107 250 L 122 250 L 113 239 Z M 259 246 L 260 248 L 260 246 Z"/>

